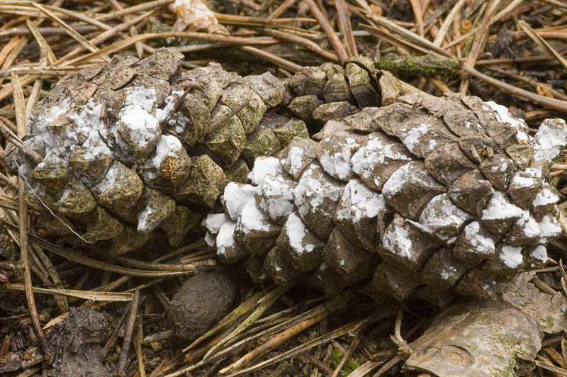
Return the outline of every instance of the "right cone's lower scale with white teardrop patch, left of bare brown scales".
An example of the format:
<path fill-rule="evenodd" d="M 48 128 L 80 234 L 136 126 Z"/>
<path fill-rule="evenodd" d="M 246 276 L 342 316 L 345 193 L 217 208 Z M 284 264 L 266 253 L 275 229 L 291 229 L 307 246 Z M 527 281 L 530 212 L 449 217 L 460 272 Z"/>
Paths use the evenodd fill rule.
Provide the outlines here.
<path fill-rule="evenodd" d="M 325 244 L 305 227 L 297 213 L 288 216 L 276 245 L 279 252 L 285 254 L 289 263 L 301 274 L 318 268 L 322 262 L 322 250 L 325 248 Z"/>

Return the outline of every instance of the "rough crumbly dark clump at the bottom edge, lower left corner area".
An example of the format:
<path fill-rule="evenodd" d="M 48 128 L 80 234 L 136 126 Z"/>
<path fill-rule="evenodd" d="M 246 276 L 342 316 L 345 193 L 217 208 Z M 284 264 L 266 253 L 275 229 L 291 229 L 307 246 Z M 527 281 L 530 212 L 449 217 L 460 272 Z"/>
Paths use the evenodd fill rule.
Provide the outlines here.
<path fill-rule="evenodd" d="M 108 321 L 99 312 L 87 308 L 71 310 L 62 323 L 47 335 L 51 355 L 45 368 L 50 377 L 110 377 L 103 364 L 101 342 L 109 332 Z"/>

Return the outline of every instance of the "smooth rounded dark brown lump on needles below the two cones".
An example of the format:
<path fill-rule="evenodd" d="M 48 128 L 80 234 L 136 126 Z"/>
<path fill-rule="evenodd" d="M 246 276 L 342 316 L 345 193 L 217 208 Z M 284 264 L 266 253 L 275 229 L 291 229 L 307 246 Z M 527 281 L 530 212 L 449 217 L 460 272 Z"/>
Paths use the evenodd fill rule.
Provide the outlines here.
<path fill-rule="evenodd" d="M 167 316 L 177 337 L 193 340 L 228 314 L 238 283 L 228 269 L 215 268 L 188 278 L 169 303 Z"/>

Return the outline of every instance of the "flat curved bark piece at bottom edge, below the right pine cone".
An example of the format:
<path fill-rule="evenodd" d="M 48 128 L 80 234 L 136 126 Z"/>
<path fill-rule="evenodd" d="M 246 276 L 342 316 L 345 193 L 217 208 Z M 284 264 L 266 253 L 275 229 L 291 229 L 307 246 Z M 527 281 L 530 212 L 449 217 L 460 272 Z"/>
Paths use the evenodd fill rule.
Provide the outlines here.
<path fill-rule="evenodd" d="M 532 360 L 543 337 L 533 317 L 503 300 L 452 305 L 412 343 L 404 369 L 442 377 L 515 376 L 517 355 Z"/>

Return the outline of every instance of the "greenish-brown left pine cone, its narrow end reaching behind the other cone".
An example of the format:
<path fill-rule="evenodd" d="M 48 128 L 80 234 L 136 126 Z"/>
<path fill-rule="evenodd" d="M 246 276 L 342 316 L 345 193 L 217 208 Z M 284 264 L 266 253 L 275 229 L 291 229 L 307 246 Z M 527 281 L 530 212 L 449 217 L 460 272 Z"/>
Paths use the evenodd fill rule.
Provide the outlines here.
<path fill-rule="evenodd" d="M 378 89 L 361 58 L 282 82 L 219 64 L 182 72 L 181 57 L 114 57 L 60 80 L 35 107 L 23 142 L 43 162 L 12 145 L 4 163 L 26 179 L 41 229 L 77 244 L 106 241 L 113 254 L 158 227 L 179 244 L 228 181 L 246 182 L 254 159 L 308 137 L 305 122 L 317 128 L 399 91 L 388 74 L 380 81 L 394 89 Z"/>

